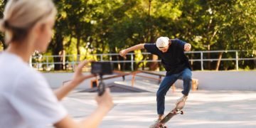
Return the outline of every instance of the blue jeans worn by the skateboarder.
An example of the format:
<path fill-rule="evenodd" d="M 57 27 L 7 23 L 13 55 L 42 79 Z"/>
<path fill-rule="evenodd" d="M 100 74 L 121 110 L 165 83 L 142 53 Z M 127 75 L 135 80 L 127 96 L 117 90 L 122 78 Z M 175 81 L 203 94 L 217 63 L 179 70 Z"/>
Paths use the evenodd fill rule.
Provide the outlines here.
<path fill-rule="evenodd" d="M 169 90 L 171 85 L 176 82 L 178 79 L 183 80 L 183 91 L 181 92 L 183 95 L 188 95 L 191 90 L 191 82 L 192 82 L 192 73 L 189 68 L 185 68 L 181 73 L 176 73 L 172 75 L 168 75 L 164 78 L 159 86 L 159 90 L 156 92 L 156 102 L 157 102 L 157 113 L 164 114 L 164 100 L 166 92 Z"/>

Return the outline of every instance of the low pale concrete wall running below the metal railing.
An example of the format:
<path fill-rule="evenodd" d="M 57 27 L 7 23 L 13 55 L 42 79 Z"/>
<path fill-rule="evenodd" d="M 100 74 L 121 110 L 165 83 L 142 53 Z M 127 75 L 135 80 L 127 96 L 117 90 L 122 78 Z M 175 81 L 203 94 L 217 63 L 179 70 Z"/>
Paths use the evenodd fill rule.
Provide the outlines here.
<path fill-rule="evenodd" d="M 165 74 L 165 72 L 158 73 Z M 48 80 L 50 87 L 53 88 L 60 87 L 63 81 L 73 77 L 73 73 L 43 73 L 43 75 Z M 193 71 L 192 78 L 199 80 L 198 90 L 256 90 L 256 71 Z M 78 88 L 90 88 L 90 80 L 92 79 L 85 80 Z M 131 79 L 132 76 L 125 77 L 125 80 Z M 120 80 L 122 78 L 114 78 L 105 82 L 107 84 Z M 176 87 L 182 87 L 181 80 L 175 84 Z"/>

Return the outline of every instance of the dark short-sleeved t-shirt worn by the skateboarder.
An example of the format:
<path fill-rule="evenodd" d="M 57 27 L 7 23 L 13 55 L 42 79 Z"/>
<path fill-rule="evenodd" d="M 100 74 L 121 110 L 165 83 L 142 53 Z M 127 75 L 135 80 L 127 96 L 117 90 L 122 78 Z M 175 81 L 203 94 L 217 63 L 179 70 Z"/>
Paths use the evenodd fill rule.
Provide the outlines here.
<path fill-rule="evenodd" d="M 183 42 L 178 39 L 171 40 L 171 46 L 166 53 L 162 53 L 156 47 L 155 43 L 146 43 L 144 48 L 154 55 L 158 55 L 161 58 L 161 63 L 164 65 L 166 75 L 172 75 L 176 73 L 180 73 L 185 68 L 189 68 L 191 70 L 191 66 L 188 62 L 188 58 L 184 53 L 184 45 L 186 42 Z"/>

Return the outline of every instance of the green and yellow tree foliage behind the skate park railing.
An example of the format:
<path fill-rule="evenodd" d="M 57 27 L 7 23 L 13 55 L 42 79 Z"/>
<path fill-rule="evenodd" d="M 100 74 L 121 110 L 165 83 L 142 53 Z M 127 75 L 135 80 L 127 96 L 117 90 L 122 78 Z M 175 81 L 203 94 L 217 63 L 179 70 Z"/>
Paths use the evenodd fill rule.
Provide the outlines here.
<path fill-rule="evenodd" d="M 0 3 L 1 17 L 4 2 Z M 118 53 L 159 36 L 180 38 L 192 50 L 255 50 L 256 1 L 250 0 L 56 0 L 58 16 L 48 53 L 75 54 L 68 60 L 94 58 L 93 53 Z M 0 35 L 1 46 L 4 37 Z M 0 46 L 0 47 L 1 47 Z M 6 48 L 6 46 L 4 46 Z M 208 54 L 205 58 L 228 58 Z M 243 57 L 253 56 L 245 52 Z M 137 56 L 140 60 L 147 56 Z M 196 58 L 191 55 L 190 58 Z M 60 61 L 59 58 L 55 61 Z M 114 57 L 113 60 L 123 58 Z M 251 64 L 253 65 L 253 64 Z M 229 69 L 233 63 L 208 63 L 207 69 Z M 58 67 L 58 65 L 55 65 Z M 196 65 L 193 65 L 196 69 Z M 253 66 L 251 66 L 253 67 Z M 62 69 L 61 65 L 58 69 Z M 127 67 L 129 68 L 129 66 Z"/>

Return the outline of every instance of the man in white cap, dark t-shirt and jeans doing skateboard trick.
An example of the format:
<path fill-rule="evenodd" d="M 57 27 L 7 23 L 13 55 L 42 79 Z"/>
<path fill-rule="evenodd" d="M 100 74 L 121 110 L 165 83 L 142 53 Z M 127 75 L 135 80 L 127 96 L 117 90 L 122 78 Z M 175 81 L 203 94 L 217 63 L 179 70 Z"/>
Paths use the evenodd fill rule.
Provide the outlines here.
<path fill-rule="evenodd" d="M 159 85 L 159 90 L 156 92 L 157 114 L 156 123 L 164 118 L 164 98 L 166 92 L 171 85 L 181 78 L 183 80 L 183 96 L 176 102 L 186 101 L 188 93 L 191 89 L 191 66 L 188 63 L 184 51 L 191 50 L 191 44 L 181 41 L 179 39 L 169 39 L 168 37 L 159 37 L 156 43 L 141 43 L 136 46 L 121 50 L 119 55 L 124 57 L 132 50 L 139 50 L 145 48 L 149 53 L 158 55 L 161 58 L 161 63 L 166 70 L 166 77 Z"/>

